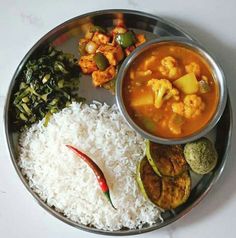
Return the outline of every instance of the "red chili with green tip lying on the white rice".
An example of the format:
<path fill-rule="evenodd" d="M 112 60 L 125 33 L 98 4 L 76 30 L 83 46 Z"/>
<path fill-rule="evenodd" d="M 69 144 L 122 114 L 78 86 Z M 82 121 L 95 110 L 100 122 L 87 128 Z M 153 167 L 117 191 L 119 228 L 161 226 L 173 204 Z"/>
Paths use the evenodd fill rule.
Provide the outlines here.
<path fill-rule="evenodd" d="M 106 196 L 106 198 L 110 202 L 111 206 L 114 209 L 116 209 L 111 201 L 110 191 L 109 191 L 107 181 L 106 181 L 106 178 L 105 178 L 102 170 L 98 167 L 98 165 L 89 156 L 87 156 L 80 150 L 78 150 L 77 148 L 75 148 L 71 145 L 66 145 L 66 146 L 69 149 L 71 149 L 73 152 L 75 152 L 75 154 L 77 154 L 82 160 L 84 160 L 88 164 L 88 166 L 93 170 L 103 194 Z"/>

